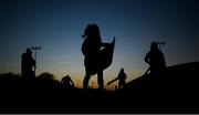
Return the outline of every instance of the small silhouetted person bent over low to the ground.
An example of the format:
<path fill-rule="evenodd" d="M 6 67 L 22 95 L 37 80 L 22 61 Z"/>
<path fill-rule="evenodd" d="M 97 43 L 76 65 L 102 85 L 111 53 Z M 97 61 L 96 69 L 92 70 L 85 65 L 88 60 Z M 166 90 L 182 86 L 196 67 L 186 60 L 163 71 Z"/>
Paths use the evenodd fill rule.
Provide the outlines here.
<path fill-rule="evenodd" d="M 71 80 L 69 75 L 62 77 L 62 84 L 64 87 L 72 88 L 74 87 L 74 82 Z"/>

